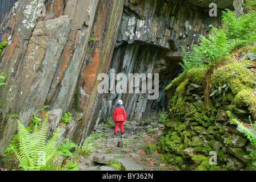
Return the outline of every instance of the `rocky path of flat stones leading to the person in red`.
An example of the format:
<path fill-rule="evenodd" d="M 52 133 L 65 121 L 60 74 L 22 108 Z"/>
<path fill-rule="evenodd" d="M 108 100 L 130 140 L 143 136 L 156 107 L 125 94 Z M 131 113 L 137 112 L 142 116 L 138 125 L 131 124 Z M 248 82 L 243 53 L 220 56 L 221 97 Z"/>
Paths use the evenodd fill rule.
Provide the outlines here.
<path fill-rule="evenodd" d="M 120 131 L 113 138 L 114 125 L 98 125 L 89 137 L 93 149 L 87 157 L 79 156 L 79 171 L 159 171 L 166 170 L 156 151 L 162 123 L 151 119 L 142 125 L 125 122 L 125 137 Z"/>

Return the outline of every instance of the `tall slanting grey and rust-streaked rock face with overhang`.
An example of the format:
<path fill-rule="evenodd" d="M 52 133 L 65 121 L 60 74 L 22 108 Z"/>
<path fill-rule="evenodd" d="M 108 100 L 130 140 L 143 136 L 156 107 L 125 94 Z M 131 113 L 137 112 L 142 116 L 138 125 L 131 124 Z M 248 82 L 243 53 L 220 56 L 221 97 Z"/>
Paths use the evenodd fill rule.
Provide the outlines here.
<path fill-rule="evenodd" d="M 96 124 L 109 119 L 119 98 L 129 119 L 139 121 L 150 117 L 150 109 L 163 109 L 168 102 L 163 89 L 179 73 L 181 46 L 197 44 L 197 35 L 206 36 L 209 24 L 218 26 L 218 17 L 189 1 L 16 2 L 0 28 L 1 42 L 9 43 L 0 67 L 8 72 L 8 85 L 0 90 L 0 154 L 17 128 L 8 114 L 19 114 L 29 125 L 43 105 L 62 114 L 77 107 L 83 118 L 68 137 L 81 143 Z M 99 94 L 97 77 L 110 74 L 110 68 L 125 75 L 159 73 L 159 97 Z"/>

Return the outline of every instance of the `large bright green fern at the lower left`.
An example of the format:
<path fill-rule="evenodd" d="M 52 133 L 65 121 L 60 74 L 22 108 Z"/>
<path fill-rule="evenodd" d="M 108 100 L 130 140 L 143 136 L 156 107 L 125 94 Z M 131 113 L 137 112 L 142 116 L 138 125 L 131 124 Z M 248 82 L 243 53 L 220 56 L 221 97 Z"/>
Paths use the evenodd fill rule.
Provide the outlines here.
<path fill-rule="evenodd" d="M 61 155 L 69 155 L 67 150 L 75 146 L 74 143 L 63 140 L 57 146 L 57 138 L 59 130 L 56 130 L 50 139 L 47 139 L 48 133 L 48 116 L 41 121 L 40 126 L 37 124 L 33 128 L 33 133 L 30 132 L 18 122 L 18 146 L 12 144 L 11 150 L 15 152 L 19 161 L 19 166 L 25 171 L 56 171 L 59 170 L 59 158 Z"/>

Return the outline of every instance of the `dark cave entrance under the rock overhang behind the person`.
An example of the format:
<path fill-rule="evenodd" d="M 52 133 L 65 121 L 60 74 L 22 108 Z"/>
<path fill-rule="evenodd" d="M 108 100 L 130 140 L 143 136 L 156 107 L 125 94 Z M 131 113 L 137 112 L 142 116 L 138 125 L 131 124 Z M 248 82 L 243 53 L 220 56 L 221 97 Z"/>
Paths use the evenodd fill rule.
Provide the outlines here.
<path fill-rule="evenodd" d="M 159 96 L 155 100 L 148 100 L 148 93 L 110 93 L 105 99 L 111 107 L 114 107 L 118 99 L 123 100 L 127 119 L 135 121 L 149 118 L 152 110 L 167 111 L 169 98 L 166 97 L 164 89 L 182 72 L 182 67 L 179 65 L 181 57 L 167 56 L 168 52 L 169 49 L 139 41 L 132 44 L 123 43 L 116 47 L 110 70 L 114 69 L 116 73 L 123 73 L 127 77 L 129 73 L 159 74 Z M 142 82 L 139 86 L 142 90 Z"/>

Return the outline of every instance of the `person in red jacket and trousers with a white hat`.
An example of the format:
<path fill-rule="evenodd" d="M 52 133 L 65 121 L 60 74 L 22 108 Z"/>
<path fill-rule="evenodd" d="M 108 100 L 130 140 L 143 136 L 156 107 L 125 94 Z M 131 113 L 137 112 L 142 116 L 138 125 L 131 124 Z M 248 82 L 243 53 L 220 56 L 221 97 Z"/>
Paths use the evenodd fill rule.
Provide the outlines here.
<path fill-rule="evenodd" d="M 114 108 L 113 121 L 115 121 L 115 130 L 114 130 L 113 137 L 116 137 L 116 135 L 117 135 L 119 124 L 120 124 L 120 129 L 121 129 L 121 137 L 122 138 L 124 137 L 123 131 L 125 131 L 125 129 L 123 129 L 123 124 L 126 121 L 126 112 L 125 112 L 125 107 L 123 107 L 122 104 L 123 104 L 122 100 L 118 100 L 117 105 L 115 105 L 115 108 Z"/>

